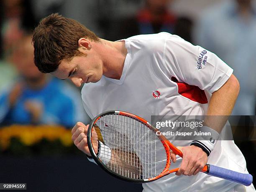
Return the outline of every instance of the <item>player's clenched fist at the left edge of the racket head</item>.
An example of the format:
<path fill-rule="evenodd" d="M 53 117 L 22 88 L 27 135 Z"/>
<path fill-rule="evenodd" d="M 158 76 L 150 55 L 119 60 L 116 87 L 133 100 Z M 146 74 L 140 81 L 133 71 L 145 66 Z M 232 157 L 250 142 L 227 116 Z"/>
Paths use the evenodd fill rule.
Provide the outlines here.
<path fill-rule="evenodd" d="M 72 141 L 74 145 L 77 146 L 79 150 L 84 152 L 86 155 L 91 156 L 88 145 L 87 145 L 87 130 L 89 125 L 84 125 L 82 122 L 77 122 L 74 125 L 71 133 L 72 133 Z M 92 146 L 97 154 L 98 152 L 98 137 L 97 132 L 94 128 L 92 128 Z"/>

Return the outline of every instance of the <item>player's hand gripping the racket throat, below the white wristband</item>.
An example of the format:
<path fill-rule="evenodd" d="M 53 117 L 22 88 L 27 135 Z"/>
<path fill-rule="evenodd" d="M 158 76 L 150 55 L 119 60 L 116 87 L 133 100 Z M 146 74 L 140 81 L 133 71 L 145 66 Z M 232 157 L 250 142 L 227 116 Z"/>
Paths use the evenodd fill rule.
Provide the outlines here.
<path fill-rule="evenodd" d="M 179 147 L 182 151 L 183 159 L 176 172 L 176 175 L 196 175 L 207 163 L 207 154 L 200 147 L 191 145 L 188 147 Z"/>

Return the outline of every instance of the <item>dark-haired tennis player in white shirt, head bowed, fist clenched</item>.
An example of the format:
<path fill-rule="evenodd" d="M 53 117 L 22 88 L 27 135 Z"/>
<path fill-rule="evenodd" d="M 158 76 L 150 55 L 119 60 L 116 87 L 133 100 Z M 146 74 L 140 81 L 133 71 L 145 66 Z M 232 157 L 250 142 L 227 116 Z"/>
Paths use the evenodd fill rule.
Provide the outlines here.
<path fill-rule="evenodd" d="M 230 115 L 239 92 L 233 70 L 216 55 L 166 32 L 111 42 L 75 20 L 52 14 L 36 27 L 33 43 L 35 64 L 41 72 L 70 79 L 78 87 L 86 83 L 82 99 L 91 118 L 106 110 L 128 111 L 147 120 L 151 115 Z M 218 134 L 222 127 L 208 129 Z M 72 140 L 90 156 L 87 128 L 77 122 Z M 200 172 L 207 160 L 247 172 L 233 141 L 188 142 L 179 142 L 184 158 L 177 159 L 176 175 L 143 184 L 143 191 L 254 190 L 253 185 L 244 187 Z"/>

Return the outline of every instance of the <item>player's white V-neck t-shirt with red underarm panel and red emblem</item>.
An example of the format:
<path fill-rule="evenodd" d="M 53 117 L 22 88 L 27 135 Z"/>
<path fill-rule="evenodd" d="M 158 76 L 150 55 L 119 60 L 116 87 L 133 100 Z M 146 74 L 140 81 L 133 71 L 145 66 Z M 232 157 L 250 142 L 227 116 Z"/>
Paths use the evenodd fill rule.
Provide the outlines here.
<path fill-rule="evenodd" d="M 85 84 L 82 100 L 93 118 L 108 110 L 136 114 L 150 122 L 151 115 L 206 115 L 211 94 L 233 70 L 212 52 L 177 35 L 161 32 L 125 39 L 127 56 L 120 80 L 102 76 Z M 192 141 L 174 141 L 189 146 Z M 246 172 L 246 161 L 233 141 L 217 141 L 208 163 Z M 178 158 L 174 167 L 178 167 Z M 171 167 L 172 168 L 172 167 Z M 170 174 L 143 184 L 143 192 L 233 192 L 234 182 L 206 175 Z"/>

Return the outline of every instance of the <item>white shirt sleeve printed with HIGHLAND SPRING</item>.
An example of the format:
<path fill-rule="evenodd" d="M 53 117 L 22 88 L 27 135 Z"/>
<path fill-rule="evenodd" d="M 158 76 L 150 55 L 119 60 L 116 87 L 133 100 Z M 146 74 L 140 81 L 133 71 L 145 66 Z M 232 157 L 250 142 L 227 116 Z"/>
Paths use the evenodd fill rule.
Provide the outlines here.
<path fill-rule="evenodd" d="M 217 55 L 177 35 L 166 39 L 164 61 L 168 75 L 210 93 L 222 87 L 233 73 Z"/>

